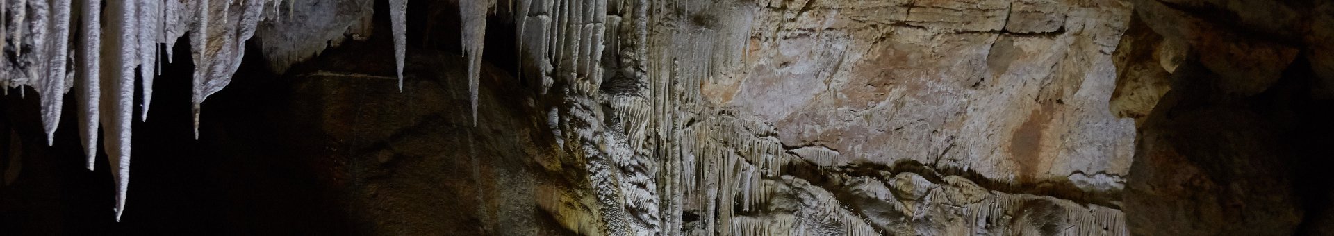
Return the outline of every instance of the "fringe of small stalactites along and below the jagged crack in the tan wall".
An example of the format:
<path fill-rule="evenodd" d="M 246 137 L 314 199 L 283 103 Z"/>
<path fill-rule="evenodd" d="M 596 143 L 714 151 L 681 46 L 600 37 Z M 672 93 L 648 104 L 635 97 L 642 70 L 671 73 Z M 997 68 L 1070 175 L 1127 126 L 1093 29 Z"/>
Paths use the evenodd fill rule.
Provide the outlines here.
<path fill-rule="evenodd" d="M 1101 205 L 1081 205 L 1069 200 L 1046 196 L 1017 195 L 988 191 L 960 176 L 946 176 L 932 183 L 912 172 L 880 172 L 883 176 L 850 176 L 835 172 L 839 153 L 823 147 L 803 147 L 784 152 L 772 140 L 771 129 L 760 123 L 747 123 L 735 117 L 704 117 L 683 129 L 680 153 L 680 196 L 684 208 L 700 212 L 706 219 L 703 232 L 731 231 L 732 235 L 783 235 L 838 231 L 842 235 L 880 235 L 891 229 L 883 223 L 863 219 L 843 205 L 824 188 L 812 187 L 802 179 L 783 175 L 782 167 L 790 161 L 820 165 L 826 181 L 838 183 L 852 197 L 886 203 L 888 211 L 902 213 L 903 224 L 920 224 L 939 217 L 940 212 L 928 205 L 956 205 L 954 212 L 962 225 L 975 232 L 1026 233 L 1031 224 L 1067 225 L 1059 235 L 1126 235 L 1121 211 Z M 811 160 L 811 157 L 816 160 Z M 795 212 L 775 213 L 774 197 L 796 197 Z M 783 201 L 782 204 L 791 204 Z M 1031 205 L 1051 205 L 1057 221 L 1029 219 L 1025 212 Z M 779 207 L 783 208 L 783 207 Z M 792 208 L 788 205 L 787 208 Z M 734 209 L 739 212 L 734 212 Z M 746 212 L 746 213 L 740 213 Z M 1026 217 L 1023 223 L 1013 219 Z M 936 219 L 938 220 L 938 219 Z M 716 225 L 715 225 L 716 224 Z M 698 225 L 696 225 L 698 227 Z M 666 228 L 674 231 L 675 228 Z M 910 231 L 919 231 L 911 228 Z M 924 229 L 932 231 L 932 229 Z M 916 232 L 922 233 L 922 232 Z M 1031 233 L 1031 232 L 1027 232 Z"/>

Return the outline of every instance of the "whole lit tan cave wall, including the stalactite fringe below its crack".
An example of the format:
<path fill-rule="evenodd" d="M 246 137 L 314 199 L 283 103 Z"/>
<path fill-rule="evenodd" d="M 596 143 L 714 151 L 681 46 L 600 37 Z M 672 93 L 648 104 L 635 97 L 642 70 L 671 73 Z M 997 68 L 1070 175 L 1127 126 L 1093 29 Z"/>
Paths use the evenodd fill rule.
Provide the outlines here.
<path fill-rule="evenodd" d="M 731 165 L 736 156 L 759 184 L 778 185 L 764 188 L 791 189 L 755 189 L 774 195 L 763 199 L 816 196 L 771 204 L 778 212 L 687 201 L 682 208 L 704 220 L 683 225 L 746 232 L 795 217 L 795 228 L 852 235 L 1125 233 L 1114 201 L 1134 123 L 1106 100 L 1129 11 L 1115 1 L 810 1 L 714 3 L 680 12 L 700 20 L 662 16 L 667 29 L 658 31 L 671 33 L 651 36 L 671 47 L 650 64 L 667 72 L 650 79 L 671 77 L 675 87 L 652 89 L 682 93 L 666 103 L 683 111 L 659 120 L 684 127 L 666 139 L 683 175 L 698 172 L 692 163 Z M 772 159 L 788 167 L 766 167 Z M 698 184 L 706 199 L 727 196 L 726 176 L 751 175 L 727 165 L 716 183 L 682 180 L 686 199 Z M 756 184 L 738 185 L 747 197 Z M 847 213 L 806 212 L 824 208 L 808 201 L 826 196 L 850 204 Z M 823 215 L 842 220 L 812 224 Z"/>

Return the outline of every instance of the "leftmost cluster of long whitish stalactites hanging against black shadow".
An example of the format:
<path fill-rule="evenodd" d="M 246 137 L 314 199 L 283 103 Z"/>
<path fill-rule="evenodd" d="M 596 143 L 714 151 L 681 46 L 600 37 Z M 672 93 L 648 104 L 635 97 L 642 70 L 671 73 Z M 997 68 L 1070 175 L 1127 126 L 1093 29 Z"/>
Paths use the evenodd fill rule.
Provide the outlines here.
<path fill-rule="evenodd" d="M 79 135 L 88 156 L 96 160 L 97 127 L 105 124 L 105 152 L 116 180 L 116 217 L 124 208 L 129 179 L 129 124 L 133 116 L 135 77 L 143 80 L 140 104 L 144 115 L 152 101 L 152 77 L 159 71 L 157 44 L 167 41 L 169 23 L 179 5 L 160 0 L 7 0 L 3 15 L 8 35 L 3 45 L 16 59 L 0 63 L 5 85 L 31 85 L 40 95 L 41 121 L 48 145 L 59 128 L 64 93 L 76 88 Z M 105 27 L 105 28 L 103 28 Z M 72 32 L 77 29 L 77 32 Z M 103 37 L 107 35 L 108 37 Z M 79 36 L 77 39 L 73 36 Z M 29 52 L 29 53 L 21 53 Z M 71 53 L 72 52 L 72 53 Z M 9 63 L 16 61 L 16 63 Z M 137 68 L 137 69 L 136 69 Z M 103 112 L 105 109 L 105 112 Z M 141 117 L 144 117 L 141 115 Z"/>

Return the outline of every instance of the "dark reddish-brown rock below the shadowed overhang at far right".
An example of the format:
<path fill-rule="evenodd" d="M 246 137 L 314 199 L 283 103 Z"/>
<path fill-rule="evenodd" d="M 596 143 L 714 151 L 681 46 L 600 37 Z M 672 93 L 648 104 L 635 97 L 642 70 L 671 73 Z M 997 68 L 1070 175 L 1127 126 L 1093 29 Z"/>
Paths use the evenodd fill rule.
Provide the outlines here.
<path fill-rule="evenodd" d="M 1174 80 L 1207 71 L 1185 64 Z M 1197 73 L 1189 76 L 1189 73 Z M 1186 84 L 1186 83 L 1182 83 Z M 1293 115 L 1191 97 L 1174 87 L 1142 127 L 1131 169 L 1131 231 L 1146 235 L 1291 235 L 1302 221 Z M 1178 92 L 1181 91 L 1181 92 Z M 1195 93 L 1201 95 L 1201 93 Z M 1279 105 L 1279 104 L 1270 104 Z M 1162 111 L 1162 112 L 1159 112 Z M 1171 115 L 1167 115 L 1171 113 Z"/>

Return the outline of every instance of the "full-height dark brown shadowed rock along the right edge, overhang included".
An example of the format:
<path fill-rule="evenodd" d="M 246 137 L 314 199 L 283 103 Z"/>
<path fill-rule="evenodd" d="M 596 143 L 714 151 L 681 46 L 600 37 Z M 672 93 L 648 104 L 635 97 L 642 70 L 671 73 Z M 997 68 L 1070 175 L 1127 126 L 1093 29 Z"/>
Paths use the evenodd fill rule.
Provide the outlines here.
<path fill-rule="evenodd" d="M 1327 3 L 1137 1 L 1122 112 L 1142 121 L 1125 195 L 1135 235 L 1327 235 L 1334 167 Z M 1311 21 L 1314 20 L 1314 21 Z M 1154 33 L 1146 33 L 1151 28 Z M 1185 51 L 1185 52 L 1182 52 Z M 1161 69 L 1151 65 L 1158 57 Z M 1138 76 L 1138 77 L 1137 77 Z M 1170 81 L 1170 92 L 1162 81 Z"/>

